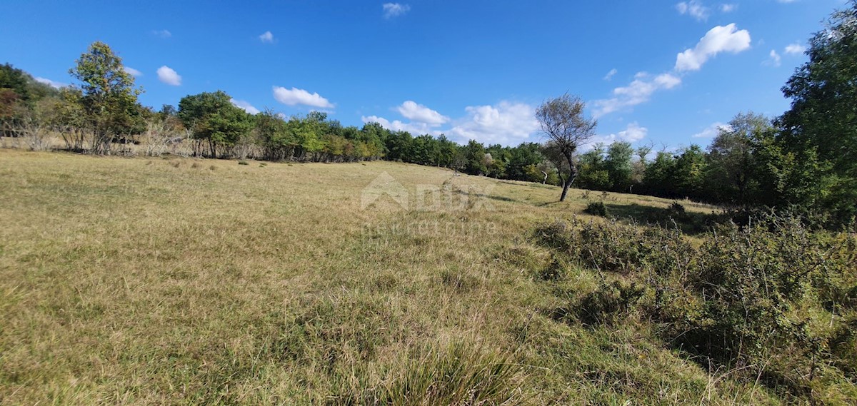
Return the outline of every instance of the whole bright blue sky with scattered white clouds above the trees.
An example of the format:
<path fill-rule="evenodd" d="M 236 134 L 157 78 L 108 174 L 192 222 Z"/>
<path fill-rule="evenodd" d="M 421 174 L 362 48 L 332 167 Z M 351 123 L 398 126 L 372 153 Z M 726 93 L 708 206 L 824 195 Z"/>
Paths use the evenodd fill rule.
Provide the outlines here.
<path fill-rule="evenodd" d="M 542 140 L 533 110 L 568 92 L 598 140 L 673 149 L 740 111 L 788 109 L 780 88 L 844 3 L 7 0 L 0 63 L 67 84 L 101 40 L 156 110 L 219 89 L 250 111 L 505 145 Z"/>

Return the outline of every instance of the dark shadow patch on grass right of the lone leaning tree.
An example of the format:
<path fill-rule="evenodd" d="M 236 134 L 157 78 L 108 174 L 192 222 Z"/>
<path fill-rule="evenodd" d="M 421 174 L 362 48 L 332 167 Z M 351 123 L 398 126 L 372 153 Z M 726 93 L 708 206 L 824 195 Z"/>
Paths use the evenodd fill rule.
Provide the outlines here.
<path fill-rule="evenodd" d="M 693 236 L 710 230 L 710 226 L 716 223 L 716 215 L 699 212 L 674 213 L 666 208 L 642 206 L 636 203 L 620 205 L 607 203 L 608 216 L 620 220 L 630 220 L 639 224 L 659 224 L 666 227 L 678 225 L 681 232 Z"/>

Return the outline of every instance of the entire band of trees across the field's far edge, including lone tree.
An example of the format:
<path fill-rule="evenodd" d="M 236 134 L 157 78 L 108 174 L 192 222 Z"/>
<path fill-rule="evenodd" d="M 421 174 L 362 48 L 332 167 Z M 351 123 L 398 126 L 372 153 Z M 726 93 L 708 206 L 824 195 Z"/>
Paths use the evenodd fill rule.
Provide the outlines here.
<path fill-rule="evenodd" d="M 560 200 L 573 186 L 771 208 L 841 226 L 857 214 L 855 21 L 857 3 L 851 1 L 812 36 L 809 62 L 782 88 L 792 99 L 790 110 L 777 117 L 741 113 L 707 149 L 654 152 L 624 141 L 590 146 L 597 123 L 584 116 L 583 101 L 567 94 L 536 109 L 546 142 L 518 146 L 476 140 L 459 145 L 442 134 L 414 135 L 377 122 L 343 126 L 320 111 L 254 115 L 223 91 L 188 95 L 177 107 L 154 110 L 138 102 L 141 88 L 101 42 L 69 70 L 75 86 L 57 90 L 8 63 L 0 66 L 0 123 L 4 136 L 26 136 L 33 149 L 50 133 L 76 152 L 116 153 L 142 142 L 152 154 L 183 144 L 192 155 L 209 158 L 387 159 L 559 185 Z"/>

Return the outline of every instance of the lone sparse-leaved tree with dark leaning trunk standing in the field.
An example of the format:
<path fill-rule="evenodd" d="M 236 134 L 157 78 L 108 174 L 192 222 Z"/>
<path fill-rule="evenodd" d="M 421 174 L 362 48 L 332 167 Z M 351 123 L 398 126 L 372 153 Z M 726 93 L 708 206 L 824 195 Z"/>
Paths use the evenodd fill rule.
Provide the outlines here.
<path fill-rule="evenodd" d="M 548 150 L 555 152 L 548 156 L 553 155 L 552 160 L 560 170 L 560 201 L 566 200 L 568 188 L 578 176 L 574 155 L 579 146 L 595 135 L 598 124 L 595 119 L 584 116 L 584 107 L 583 100 L 566 93 L 556 99 L 548 99 L 536 109 L 536 119 L 541 125 L 542 134 L 548 137 Z M 567 170 L 566 176 L 563 176 L 563 169 Z"/>

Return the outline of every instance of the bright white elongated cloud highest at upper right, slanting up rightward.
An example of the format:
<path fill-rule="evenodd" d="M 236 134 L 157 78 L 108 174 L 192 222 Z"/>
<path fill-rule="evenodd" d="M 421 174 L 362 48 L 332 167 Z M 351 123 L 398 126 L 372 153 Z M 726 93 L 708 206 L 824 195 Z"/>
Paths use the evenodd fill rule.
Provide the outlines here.
<path fill-rule="evenodd" d="M 738 30 L 735 24 L 711 28 L 695 48 L 681 52 L 675 58 L 675 70 L 699 70 L 710 57 L 721 52 L 738 53 L 750 48 L 750 33 Z"/>

